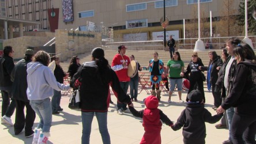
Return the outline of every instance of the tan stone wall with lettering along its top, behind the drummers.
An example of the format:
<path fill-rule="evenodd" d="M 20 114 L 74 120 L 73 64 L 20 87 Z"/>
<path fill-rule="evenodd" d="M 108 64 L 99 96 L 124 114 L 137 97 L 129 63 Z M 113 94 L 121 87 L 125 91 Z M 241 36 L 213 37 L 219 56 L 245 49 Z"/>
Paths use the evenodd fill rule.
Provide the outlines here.
<path fill-rule="evenodd" d="M 57 29 L 55 37 L 56 54 L 61 54 L 62 60 L 101 47 L 101 33 Z"/>

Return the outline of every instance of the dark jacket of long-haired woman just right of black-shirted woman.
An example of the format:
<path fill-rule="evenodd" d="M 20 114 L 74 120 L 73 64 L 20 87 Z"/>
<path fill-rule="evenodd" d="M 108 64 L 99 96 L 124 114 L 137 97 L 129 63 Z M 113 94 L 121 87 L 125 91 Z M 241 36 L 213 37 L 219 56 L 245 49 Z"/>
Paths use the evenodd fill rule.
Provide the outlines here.
<path fill-rule="evenodd" d="M 209 66 L 203 66 L 201 68 L 202 71 L 209 70 L 210 65 L 212 65 L 212 69 L 210 70 L 210 84 L 215 84 L 218 79 L 218 73 L 219 73 L 219 70 L 217 70 L 216 68 L 218 66 L 220 66 L 220 67 L 223 66 L 223 61 L 220 58 L 220 56 L 218 55 L 217 58 L 214 59 L 212 61 L 212 63 L 209 64 Z"/>

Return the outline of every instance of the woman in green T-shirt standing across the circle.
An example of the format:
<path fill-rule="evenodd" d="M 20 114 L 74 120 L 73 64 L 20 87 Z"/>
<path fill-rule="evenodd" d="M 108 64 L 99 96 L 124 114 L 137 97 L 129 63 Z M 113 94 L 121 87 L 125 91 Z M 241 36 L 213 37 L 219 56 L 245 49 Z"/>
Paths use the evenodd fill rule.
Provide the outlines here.
<path fill-rule="evenodd" d="M 168 73 L 169 72 L 169 73 Z M 165 74 L 169 74 L 170 78 L 170 91 L 168 103 L 171 103 L 171 96 L 174 92 L 175 86 L 178 88 L 179 102 L 184 103 L 182 100 L 182 77 L 184 76 L 184 62 L 180 59 L 180 54 L 178 51 L 174 52 L 174 57 L 167 62 L 167 69 Z"/>

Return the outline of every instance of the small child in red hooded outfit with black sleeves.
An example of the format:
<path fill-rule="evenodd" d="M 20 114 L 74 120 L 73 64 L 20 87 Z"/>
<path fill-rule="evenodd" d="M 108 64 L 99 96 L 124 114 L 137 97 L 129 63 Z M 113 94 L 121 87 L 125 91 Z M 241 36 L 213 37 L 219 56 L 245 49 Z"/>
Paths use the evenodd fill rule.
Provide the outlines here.
<path fill-rule="evenodd" d="M 168 126 L 172 126 L 174 123 L 164 115 L 163 111 L 158 109 L 159 100 L 155 96 L 148 96 L 145 99 L 146 108 L 141 111 L 136 111 L 134 107 L 129 105 L 129 109 L 134 116 L 142 118 L 144 127 L 144 135 L 141 139 L 140 143 L 154 143 L 160 144 L 161 143 L 161 126 L 162 122 L 167 124 Z"/>

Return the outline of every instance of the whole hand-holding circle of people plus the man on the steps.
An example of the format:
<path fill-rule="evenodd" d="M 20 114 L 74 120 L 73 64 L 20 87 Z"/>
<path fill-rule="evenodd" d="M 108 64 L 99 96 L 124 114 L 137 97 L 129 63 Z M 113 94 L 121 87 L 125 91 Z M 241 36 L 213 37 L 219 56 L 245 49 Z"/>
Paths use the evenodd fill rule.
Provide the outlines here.
<path fill-rule="evenodd" d="M 229 138 L 223 143 L 255 143 L 256 134 L 256 56 L 249 44 L 236 37 L 229 38 L 222 55 L 210 51 L 209 65 L 204 66 L 197 52 L 191 55 L 191 61 L 185 71 L 184 63 L 178 51 L 174 51 L 172 37 L 167 46 L 171 59 L 167 66 L 153 52 L 153 59 L 147 67 L 140 66 L 135 61 L 137 70 L 149 70 L 151 95 L 144 99 L 146 108 L 137 111 L 133 102 L 137 101 L 139 76 L 137 71 L 132 76 L 127 75 L 134 55 L 126 56 L 125 46 L 118 47 L 118 54 L 112 59 L 111 65 L 104 57 L 104 50 L 100 47 L 91 52 L 92 61 L 80 65 L 78 56 L 70 60 L 66 74 L 59 65 L 58 56 L 50 58 L 45 51 L 27 49 L 23 59 L 16 65 L 13 62 L 14 51 L 11 46 L 3 49 L 0 58 L 0 90 L 2 94 L 1 124 L 14 126 L 15 135 L 25 128 L 25 137 L 33 137 L 32 143 L 47 143 L 50 137 L 52 114 L 63 111 L 60 107 L 61 90 L 80 88 L 80 108 L 82 119 L 81 143 L 89 143 L 93 116 L 99 123 L 99 131 L 103 143 L 111 143 L 107 130 L 107 112 L 111 101 L 110 86 L 117 98 L 117 112 L 131 112 L 142 118 L 145 133 L 140 143 L 161 143 L 162 122 L 173 130 L 183 127 L 184 143 L 205 143 L 205 122 L 221 123 L 216 128 L 228 128 Z M 54 71 L 48 65 L 55 60 Z M 207 71 L 205 78 L 202 71 Z M 39 75 L 42 75 L 39 77 Z M 70 85 L 63 84 L 63 77 L 70 76 Z M 168 86 L 170 80 L 170 88 Z M 176 123 L 173 123 L 159 106 L 161 100 L 160 82 L 165 80 L 169 92 L 168 103 L 172 103 L 171 96 L 175 88 L 178 90 L 179 103 L 182 100 L 183 78 L 189 79 L 190 87 L 186 96 L 186 108 L 181 112 Z M 212 89 L 214 98 L 213 115 L 204 108 L 204 81 L 208 90 Z M 130 85 L 130 96 L 127 90 Z M 52 97 L 50 99 L 50 97 Z M 12 101 L 10 101 L 10 98 Z M 128 105 L 128 108 L 127 108 Z M 26 107 L 26 116 L 24 114 Z M 10 117 L 16 108 L 15 123 Z M 35 117 L 39 116 L 39 123 L 33 130 Z"/>

